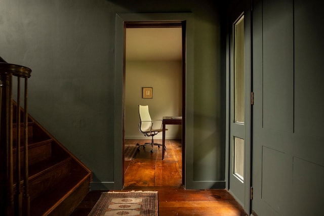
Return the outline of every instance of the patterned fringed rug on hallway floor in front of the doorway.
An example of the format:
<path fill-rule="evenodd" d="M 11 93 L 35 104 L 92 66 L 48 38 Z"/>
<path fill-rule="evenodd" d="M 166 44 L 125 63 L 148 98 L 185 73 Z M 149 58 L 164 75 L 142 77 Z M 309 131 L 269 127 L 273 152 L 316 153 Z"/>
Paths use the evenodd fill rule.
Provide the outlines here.
<path fill-rule="evenodd" d="M 158 215 L 157 191 L 104 192 L 88 216 Z"/>

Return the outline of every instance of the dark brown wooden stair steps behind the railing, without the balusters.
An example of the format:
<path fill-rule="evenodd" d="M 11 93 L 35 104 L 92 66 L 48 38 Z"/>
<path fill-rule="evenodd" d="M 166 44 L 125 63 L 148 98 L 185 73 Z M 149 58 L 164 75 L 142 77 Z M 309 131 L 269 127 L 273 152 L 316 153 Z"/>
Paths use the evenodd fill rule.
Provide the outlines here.
<path fill-rule="evenodd" d="M 13 110 L 13 113 L 16 113 L 15 103 Z M 24 147 L 16 148 L 15 115 L 13 120 L 13 158 L 16 158 L 17 151 L 20 151 L 21 161 L 24 161 Z M 23 123 L 20 125 L 23 127 Z M 23 136 L 23 128 L 20 132 Z M 15 179 L 15 160 L 13 169 Z M 69 215 L 87 195 L 92 181 L 92 172 L 30 115 L 28 115 L 28 172 L 32 216 Z M 15 188 L 16 185 L 14 191 Z"/>

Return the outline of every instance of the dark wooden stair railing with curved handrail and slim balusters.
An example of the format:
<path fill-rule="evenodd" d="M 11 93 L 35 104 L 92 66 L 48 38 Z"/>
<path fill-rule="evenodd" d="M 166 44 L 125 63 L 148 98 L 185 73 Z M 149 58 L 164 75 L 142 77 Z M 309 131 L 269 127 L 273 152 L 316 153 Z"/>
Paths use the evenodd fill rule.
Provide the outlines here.
<path fill-rule="evenodd" d="M 0 214 L 29 215 L 30 198 L 28 194 L 28 114 L 27 114 L 27 79 L 31 69 L 9 64 L 0 57 Z M 13 77 L 17 78 L 17 109 L 13 113 Z M 24 90 L 21 90 L 24 79 Z M 23 106 L 21 106 L 23 92 Z M 23 112 L 23 121 L 21 120 Z M 13 158 L 13 116 L 17 124 L 16 158 Z M 23 140 L 20 128 L 23 126 Z M 20 149 L 23 149 L 23 157 Z M 21 162 L 21 158 L 23 161 Z M 14 160 L 16 165 L 14 167 Z M 21 165 L 23 167 L 21 167 Z M 15 169 L 14 169 L 15 168 Z M 14 173 L 15 170 L 15 173 Z M 23 173 L 21 173 L 23 171 Z M 22 177 L 23 176 L 23 177 Z M 15 179 L 14 179 L 15 178 Z M 14 191 L 15 190 L 15 191 Z"/>

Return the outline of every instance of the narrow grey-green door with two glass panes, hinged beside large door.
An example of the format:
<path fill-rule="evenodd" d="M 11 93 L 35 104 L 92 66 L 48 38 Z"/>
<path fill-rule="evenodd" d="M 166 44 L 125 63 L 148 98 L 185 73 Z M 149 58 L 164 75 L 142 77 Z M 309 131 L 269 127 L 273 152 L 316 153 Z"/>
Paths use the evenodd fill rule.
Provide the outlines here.
<path fill-rule="evenodd" d="M 239 148 L 245 148 L 245 52 L 244 32 L 245 17 L 240 14 L 232 24 L 232 49 L 231 49 L 231 104 L 230 104 L 230 192 L 245 205 L 244 182 L 244 151 L 241 154 Z M 238 145 L 240 147 L 238 147 Z M 243 166 L 243 167 L 242 167 Z M 237 169 L 240 167 L 240 174 Z"/>

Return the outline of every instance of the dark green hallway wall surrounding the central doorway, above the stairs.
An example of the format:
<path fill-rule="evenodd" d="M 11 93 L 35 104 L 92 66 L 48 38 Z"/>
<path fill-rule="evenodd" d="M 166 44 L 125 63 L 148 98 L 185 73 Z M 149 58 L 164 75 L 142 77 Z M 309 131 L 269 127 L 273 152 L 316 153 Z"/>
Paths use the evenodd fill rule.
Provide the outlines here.
<path fill-rule="evenodd" d="M 122 2 L 122 3 L 120 3 Z M 4 0 L 0 56 L 30 67 L 29 113 L 94 172 L 115 175 L 115 15 L 191 12 L 194 17 L 190 187 L 225 180 L 219 7 L 215 1 Z M 121 143 L 120 143 L 121 146 Z M 200 184 L 201 182 L 201 184 Z M 207 184 L 206 184 L 207 182 Z M 194 183 L 194 184 L 193 184 Z M 197 184 L 196 184 L 197 183 Z"/>

